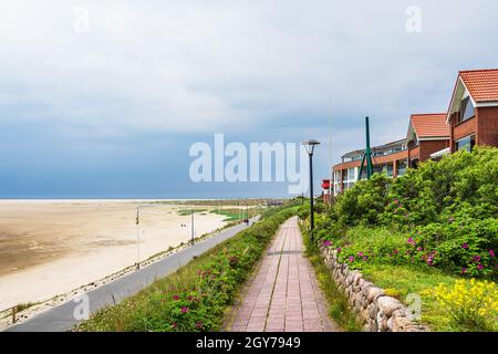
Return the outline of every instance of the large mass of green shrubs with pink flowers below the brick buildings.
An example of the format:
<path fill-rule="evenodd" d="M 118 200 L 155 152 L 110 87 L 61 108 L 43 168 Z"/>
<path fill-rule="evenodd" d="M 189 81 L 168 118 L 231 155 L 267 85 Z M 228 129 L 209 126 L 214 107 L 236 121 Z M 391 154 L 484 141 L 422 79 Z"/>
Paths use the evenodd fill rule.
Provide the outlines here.
<path fill-rule="evenodd" d="M 342 261 L 354 268 L 369 262 L 424 264 L 495 279 L 497 180 L 497 148 L 458 152 L 409 169 L 403 178 L 374 174 L 317 216 L 317 236 L 341 247 Z M 364 227 L 381 228 L 383 235 L 350 239 L 347 230 Z"/>

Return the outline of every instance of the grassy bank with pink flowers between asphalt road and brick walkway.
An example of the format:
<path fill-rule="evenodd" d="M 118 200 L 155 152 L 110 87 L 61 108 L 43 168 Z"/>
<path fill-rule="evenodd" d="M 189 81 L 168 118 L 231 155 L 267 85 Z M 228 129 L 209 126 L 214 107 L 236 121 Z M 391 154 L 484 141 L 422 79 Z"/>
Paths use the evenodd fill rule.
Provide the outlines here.
<path fill-rule="evenodd" d="M 260 259 L 279 226 L 295 214 L 287 208 L 197 257 L 138 294 L 97 312 L 77 331 L 212 331 Z"/>

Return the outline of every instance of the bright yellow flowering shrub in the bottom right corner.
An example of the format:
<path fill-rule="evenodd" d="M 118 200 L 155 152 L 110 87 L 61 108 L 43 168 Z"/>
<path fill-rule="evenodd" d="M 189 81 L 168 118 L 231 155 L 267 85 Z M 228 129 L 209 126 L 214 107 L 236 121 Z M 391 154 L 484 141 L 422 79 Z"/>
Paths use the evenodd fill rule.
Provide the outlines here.
<path fill-rule="evenodd" d="M 453 288 L 439 284 L 434 295 L 456 325 L 477 331 L 497 325 L 498 289 L 494 282 L 457 280 Z"/>

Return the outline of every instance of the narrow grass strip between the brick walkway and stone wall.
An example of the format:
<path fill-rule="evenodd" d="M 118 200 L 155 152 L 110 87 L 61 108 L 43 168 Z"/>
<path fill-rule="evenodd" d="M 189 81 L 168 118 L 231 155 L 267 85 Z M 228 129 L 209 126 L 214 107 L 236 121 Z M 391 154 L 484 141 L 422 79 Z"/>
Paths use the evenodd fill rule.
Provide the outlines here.
<path fill-rule="evenodd" d="M 347 298 L 338 289 L 317 244 L 310 240 L 308 232 L 303 228 L 301 228 L 301 231 L 304 238 L 305 256 L 313 266 L 319 285 L 325 295 L 329 305 L 329 315 L 343 331 L 360 332 L 361 325 L 356 322 L 354 314 L 350 310 Z"/>

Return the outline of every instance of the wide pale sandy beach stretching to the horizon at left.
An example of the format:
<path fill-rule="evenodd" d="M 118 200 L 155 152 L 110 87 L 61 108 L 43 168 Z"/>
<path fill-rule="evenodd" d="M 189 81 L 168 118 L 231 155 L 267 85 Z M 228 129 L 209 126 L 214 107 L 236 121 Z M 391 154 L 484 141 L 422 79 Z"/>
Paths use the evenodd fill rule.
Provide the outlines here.
<path fill-rule="evenodd" d="M 0 311 L 51 299 L 135 264 L 136 206 L 144 204 L 0 200 Z M 189 206 L 154 204 L 141 209 L 141 261 L 190 240 L 190 216 L 178 214 L 181 209 Z M 222 216 L 197 212 L 195 235 L 225 223 Z"/>

